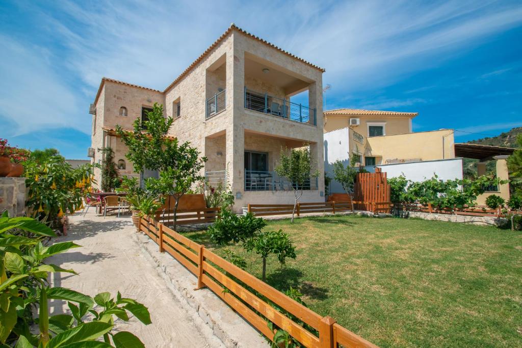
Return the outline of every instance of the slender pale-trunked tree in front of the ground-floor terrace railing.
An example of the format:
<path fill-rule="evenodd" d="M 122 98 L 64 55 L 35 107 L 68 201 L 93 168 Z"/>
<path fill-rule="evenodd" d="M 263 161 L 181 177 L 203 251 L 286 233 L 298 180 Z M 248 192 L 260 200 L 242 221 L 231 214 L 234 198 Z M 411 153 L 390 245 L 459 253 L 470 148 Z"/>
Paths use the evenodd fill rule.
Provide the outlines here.
<path fill-rule="evenodd" d="M 306 146 L 301 149 L 290 149 L 290 153 L 281 149 L 280 163 L 276 166 L 277 175 L 287 178 L 292 184 L 295 201 L 292 210 L 294 219 L 295 207 L 298 200 L 303 196 L 303 188 L 311 184 L 312 178 L 319 176 L 319 170 L 312 171 L 312 159 L 310 149 Z"/>

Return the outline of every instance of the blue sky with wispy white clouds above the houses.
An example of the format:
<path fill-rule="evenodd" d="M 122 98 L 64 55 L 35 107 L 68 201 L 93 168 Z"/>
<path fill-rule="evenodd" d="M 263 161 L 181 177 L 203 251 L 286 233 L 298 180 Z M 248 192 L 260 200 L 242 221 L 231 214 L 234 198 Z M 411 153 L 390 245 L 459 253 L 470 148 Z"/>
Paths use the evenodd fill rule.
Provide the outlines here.
<path fill-rule="evenodd" d="M 231 22 L 324 67 L 327 109 L 456 141 L 522 126 L 520 1 L 3 1 L 0 138 L 86 158 L 102 76 L 163 90 Z"/>

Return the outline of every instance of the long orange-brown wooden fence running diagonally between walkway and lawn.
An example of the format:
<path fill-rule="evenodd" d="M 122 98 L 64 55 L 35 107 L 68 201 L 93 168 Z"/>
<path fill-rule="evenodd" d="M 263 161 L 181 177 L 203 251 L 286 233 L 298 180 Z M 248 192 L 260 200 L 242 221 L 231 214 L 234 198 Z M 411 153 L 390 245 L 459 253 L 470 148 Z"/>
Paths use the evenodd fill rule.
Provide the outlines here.
<path fill-rule="evenodd" d="M 147 216 L 140 218 L 139 230 L 159 245 L 161 253 L 166 251 L 196 275 L 197 289 L 208 287 L 270 340 L 274 339 L 276 331 L 268 327 L 268 320 L 286 330 L 306 347 L 376 347 L 338 325 L 333 318 L 321 317 L 310 308 L 207 250 L 204 245 L 191 241 L 161 222 Z M 311 330 L 307 330 L 275 306 L 306 323 Z"/>

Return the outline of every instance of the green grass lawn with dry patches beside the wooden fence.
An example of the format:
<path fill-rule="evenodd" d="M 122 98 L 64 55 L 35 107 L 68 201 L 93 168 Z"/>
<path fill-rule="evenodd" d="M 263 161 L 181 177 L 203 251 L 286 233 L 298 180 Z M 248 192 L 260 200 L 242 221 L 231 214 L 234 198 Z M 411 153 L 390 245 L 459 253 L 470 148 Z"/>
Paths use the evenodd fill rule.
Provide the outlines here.
<path fill-rule="evenodd" d="M 297 258 L 268 259 L 267 282 L 382 347 L 522 346 L 522 233 L 364 217 L 271 221 Z M 188 237 L 223 255 L 205 232 Z M 261 278 L 262 262 L 229 247 Z"/>

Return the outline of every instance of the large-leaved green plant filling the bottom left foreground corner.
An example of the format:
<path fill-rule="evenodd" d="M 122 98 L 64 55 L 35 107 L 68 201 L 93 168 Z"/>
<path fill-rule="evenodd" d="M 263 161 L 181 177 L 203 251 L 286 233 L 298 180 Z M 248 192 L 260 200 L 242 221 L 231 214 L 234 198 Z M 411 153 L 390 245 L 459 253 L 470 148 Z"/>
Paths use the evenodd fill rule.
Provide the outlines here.
<path fill-rule="evenodd" d="M 147 307 L 131 298 L 109 293 L 94 298 L 48 284 L 50 273 L 74 270 L 44 263 L 49 257 L 79 247 L 72 242 L 44 246 L 56 236 L 31 218 L 0 218 L 0 344 L 16 347 L 144 347 L 131 332 L 112 332 L 114 316 L 128 321 L 128 313 L 148 325 Z M 49 300 L 67 301 L 72 315 L 49 314 Z M 93 308 L 94 303 L 99 307 Z M 35 318 L 35 315 L 38 317 Z M 86 318 L 86 315 L 89 316 Z M 38 327 L 33 323 L 37 322 Z M 103 342 L 98 339 L 103 338 Z M 111 342 L 112 339 L 112 342 Z"/>

